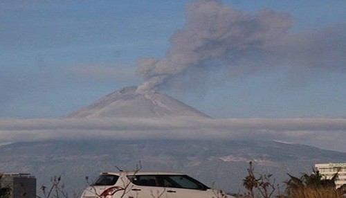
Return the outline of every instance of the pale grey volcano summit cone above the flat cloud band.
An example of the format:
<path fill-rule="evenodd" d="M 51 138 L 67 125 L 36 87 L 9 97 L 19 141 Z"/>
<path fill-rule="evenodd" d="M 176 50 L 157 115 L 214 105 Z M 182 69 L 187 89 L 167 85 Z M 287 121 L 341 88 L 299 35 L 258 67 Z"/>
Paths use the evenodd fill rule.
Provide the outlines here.
<path fill-rule="evenodd" d="M 165 93 L 138 92 L 136 89 L 137 87 L 125 87 L 110 93 L 69 114 L 67 118 L 156 118 L 163 116 L 210 118 Z"/>

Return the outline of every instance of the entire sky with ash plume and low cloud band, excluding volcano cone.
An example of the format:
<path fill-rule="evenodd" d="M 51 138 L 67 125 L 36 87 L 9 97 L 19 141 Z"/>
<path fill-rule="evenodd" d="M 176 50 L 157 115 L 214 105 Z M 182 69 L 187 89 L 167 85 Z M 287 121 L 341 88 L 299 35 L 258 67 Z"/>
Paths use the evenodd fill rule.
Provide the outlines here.
<path fill-rule="evenodd" d="M 0 145 L 257 139 L 346 152 L 346 1 L 0 1 Z M 214 119 L 64 116 L 118 89 Z"/>

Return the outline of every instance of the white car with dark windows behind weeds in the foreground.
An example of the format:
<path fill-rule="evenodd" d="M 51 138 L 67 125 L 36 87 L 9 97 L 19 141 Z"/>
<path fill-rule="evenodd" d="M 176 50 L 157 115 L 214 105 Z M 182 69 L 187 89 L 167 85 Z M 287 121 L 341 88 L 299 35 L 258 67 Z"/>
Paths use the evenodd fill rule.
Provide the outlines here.
<path fill-rule="evenodd" d="M 186 174 L 176 172 L 102 172 L 82 198 L 230 198 Z"/>

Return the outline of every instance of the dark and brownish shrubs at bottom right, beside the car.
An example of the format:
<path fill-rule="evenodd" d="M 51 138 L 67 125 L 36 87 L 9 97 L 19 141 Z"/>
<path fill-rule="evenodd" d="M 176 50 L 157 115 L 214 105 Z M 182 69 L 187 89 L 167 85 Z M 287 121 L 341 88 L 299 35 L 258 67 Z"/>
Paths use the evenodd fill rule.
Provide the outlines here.
<path fill-rule="evenodd" d="M 256 174 L 252 162 L 249 163 L 248 175 L 243 180 L 246 188 L 244 195 L 236 197 L 246 198 L 341 198 L 346 197 L 346 184 L 336 188 L 335 181 L 338 173 L 331 179 L 326 179 L 318 170 L 313 169 L 311 174 L 302 174 L 294 177 L 288 174 L 290 179 L 284 182 L 284 192 L 280 193 L 279 184 L 275 184 L 272 174 Z"/>

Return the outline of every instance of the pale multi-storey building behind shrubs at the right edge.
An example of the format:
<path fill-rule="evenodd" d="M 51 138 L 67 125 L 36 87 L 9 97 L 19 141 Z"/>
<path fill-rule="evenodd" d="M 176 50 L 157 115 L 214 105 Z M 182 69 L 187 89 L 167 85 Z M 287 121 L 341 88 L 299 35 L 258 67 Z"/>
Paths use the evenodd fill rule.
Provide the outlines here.
<path fill-rule="evenodd" d="M 338 172 L 338 179 L 335 182 L 336 188 L 346 184 L 346 163 L 318 163 L 315 167 L 326 179 L 331 179 Z"/>

